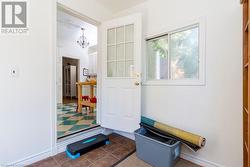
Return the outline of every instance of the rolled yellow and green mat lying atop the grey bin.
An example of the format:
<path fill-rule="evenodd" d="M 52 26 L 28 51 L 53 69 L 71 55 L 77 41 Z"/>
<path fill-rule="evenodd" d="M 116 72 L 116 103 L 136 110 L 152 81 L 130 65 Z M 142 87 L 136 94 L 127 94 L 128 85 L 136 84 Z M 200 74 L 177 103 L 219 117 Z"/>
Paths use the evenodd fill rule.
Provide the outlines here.
<path fill-rule="evenodd" d="M 204 137 L 201 137 L 201 136 L 193 134 L 193 133 L 186 132 L 186 131 L 178 129 L 178 128 L 171 127 L 169 125 L 154 121 L 154 120 L 146 118 L 146 117 L 141 118 L 141 123 L 152 126 L 152 127 L 159 129 L 163 132 L 167 132 L 173 136 L 176 136 L 184 141 L 187 141 L 187 142 L 192 143 L 192 144 L 199 146 L 199 147 L 204 147 L 206 144 L 206 139 Z"/>

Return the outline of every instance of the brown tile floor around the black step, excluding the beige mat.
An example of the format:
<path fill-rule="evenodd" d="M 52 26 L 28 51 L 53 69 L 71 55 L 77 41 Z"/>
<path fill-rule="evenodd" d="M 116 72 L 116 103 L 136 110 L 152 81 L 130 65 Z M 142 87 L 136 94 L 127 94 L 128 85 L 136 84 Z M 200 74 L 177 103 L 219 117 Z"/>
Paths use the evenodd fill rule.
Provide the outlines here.
<path fill-rule="evenodd" d="M 39 161 L 30 167 L 110 167 L 135 151 L 135 142 L 117 134 L 109 136 L 111 144 L 90 151 L 76 160 L 65 153 Z"/>

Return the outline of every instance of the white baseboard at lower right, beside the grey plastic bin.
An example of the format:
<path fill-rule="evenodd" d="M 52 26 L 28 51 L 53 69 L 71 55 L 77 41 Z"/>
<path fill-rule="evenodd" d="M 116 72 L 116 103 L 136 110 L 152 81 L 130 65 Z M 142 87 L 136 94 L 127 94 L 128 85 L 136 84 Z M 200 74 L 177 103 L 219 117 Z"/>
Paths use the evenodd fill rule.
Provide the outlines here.
<path fill-rule="evenodd" d="M 217 164 L 217 163 L 205 160 L 205 159 L 201 159 L 201 158 L 198 158 L 196 156 L 193 156 L 193 155 L 190 155 L 190 154 L 187 154 L 187 153 L 184 153 L 184 152 L 181 153 L 180 157 L 182 159 L 185 159 L 187 161 L 190 161 L 190 162 L 195 163 L 195 164 L 200 165 L 200 166 L 205 166 L 205 167 L 223 167 L 220 164 Z"/>

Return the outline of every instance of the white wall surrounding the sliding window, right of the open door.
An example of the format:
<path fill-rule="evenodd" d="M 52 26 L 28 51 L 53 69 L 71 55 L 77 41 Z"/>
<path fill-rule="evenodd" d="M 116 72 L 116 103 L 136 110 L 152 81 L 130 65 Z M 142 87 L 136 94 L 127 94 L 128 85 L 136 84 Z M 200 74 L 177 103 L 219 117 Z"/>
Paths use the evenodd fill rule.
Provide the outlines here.
<path fill-rule="evenodd" d="M 206 85 L 144 86 L 142 112 L 160 122 L 206 137 L 206 147 L 198 153 L 183 148 L 184 153 L 195 156 L 196 160 L 211 162 L 211 166 L 242 166 L 242 12 L 239 1 L 148 0 L 116 16 L 134 12 L 143 13 L 146 36 L 206 17 Z"/>

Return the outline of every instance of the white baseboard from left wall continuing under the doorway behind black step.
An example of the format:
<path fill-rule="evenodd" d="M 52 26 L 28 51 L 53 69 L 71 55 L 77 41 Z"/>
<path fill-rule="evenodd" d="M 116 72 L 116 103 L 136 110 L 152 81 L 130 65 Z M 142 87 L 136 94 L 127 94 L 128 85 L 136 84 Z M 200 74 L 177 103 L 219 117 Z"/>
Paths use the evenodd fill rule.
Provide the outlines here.
<path fill-rule="evenodd" d="M 67 140 L 60 141 L 59 143 L 57 143 L 57 146 L 55 148 L 45 150 L 45 151 L 40 152 L 38 154 L 33 154 L 31 156 L 28 156 L 28 157 L 23 158 L 21 160 L 18 160 L 16 162 L 12 162 L 10 164 L 7 164 L 7 166 L 26 166 L 26 165 L 33 164 L 33 163 L 38 162 L 40 160 L 43 160 L 43 159 L 46 159 L 46 158 L 51 157 L 53 155 L 64 152 L 66 150 L 66 146 L 70 143 L 74 143 L 76 141 L 100 134 L 102 132 L 103 132 L 103 128 L 101 128 L 101 127 L 98 127 L 94 130 L 92 129 L 92 130 L 89 130 L 86 132 L 82 132 L 78 135 L 67 138 Z"/>

